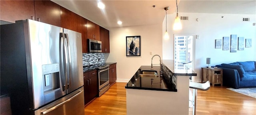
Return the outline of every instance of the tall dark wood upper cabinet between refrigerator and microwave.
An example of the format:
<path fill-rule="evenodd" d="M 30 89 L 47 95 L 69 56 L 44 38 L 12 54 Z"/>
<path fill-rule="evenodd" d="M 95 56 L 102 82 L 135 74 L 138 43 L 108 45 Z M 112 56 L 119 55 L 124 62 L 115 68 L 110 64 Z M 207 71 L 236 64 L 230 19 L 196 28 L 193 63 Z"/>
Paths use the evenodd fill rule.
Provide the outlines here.
<path fill-rule="evenodd" d="M 86 28 L 87 20 L 85 18 L 83 18 L 82 16 L 79 16 L 79 15 L 77 15 L 77 16 L 78 16 L 77 32 L 80 32 L 82 34 L 82 52 L 87 53 L 88 52 L 87 28 Z"/>

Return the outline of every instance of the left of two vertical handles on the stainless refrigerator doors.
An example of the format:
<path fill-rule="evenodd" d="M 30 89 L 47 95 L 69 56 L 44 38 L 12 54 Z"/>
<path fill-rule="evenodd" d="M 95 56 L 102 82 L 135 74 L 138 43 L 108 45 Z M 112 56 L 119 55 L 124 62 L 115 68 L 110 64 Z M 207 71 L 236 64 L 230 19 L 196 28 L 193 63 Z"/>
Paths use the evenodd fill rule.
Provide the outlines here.
<path fill-rule="evenodd" d="M 61 82 L 62 82 L 62 91 L 65 91 L 67 89 L 67 77 L 66 77 L 66 49 L 65 49 L 65 40 L 64 40 L 65 34 L 60 33 L 60 68 L 61 68 Z M 64 78 L 63 78 L 64 76 Z M 64 83 L 65 82 L 65 83 Z"/>

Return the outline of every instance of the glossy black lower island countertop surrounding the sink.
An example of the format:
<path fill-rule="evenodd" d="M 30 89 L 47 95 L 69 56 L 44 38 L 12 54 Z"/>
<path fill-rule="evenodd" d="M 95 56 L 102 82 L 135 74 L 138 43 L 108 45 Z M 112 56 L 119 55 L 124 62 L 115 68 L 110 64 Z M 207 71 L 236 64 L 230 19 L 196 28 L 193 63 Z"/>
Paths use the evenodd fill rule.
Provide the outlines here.
<path fill-rule="evenodd" d="M 177 89 L 170 82 L 169 77 L 160 77 L 160 66 L 153 66 L 157 71 L 159 77 L 140 77 L 140 72 L 143 70 L 150 70 L 151 66 L 141 66 L 138 71 L 132 76 L 130 81 L 126 84 L 126 89 L 145 89 L 156 91 L 175 91 Z M 153 79 L 153 80 L 151 80 Z"/>

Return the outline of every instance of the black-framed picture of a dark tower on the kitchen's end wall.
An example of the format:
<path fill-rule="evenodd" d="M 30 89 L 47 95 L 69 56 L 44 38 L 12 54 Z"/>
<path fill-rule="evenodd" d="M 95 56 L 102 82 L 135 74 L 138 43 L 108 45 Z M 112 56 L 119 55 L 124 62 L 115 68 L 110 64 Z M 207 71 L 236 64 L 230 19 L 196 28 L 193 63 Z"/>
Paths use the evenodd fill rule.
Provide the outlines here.
<path fill-rule="evenodd" d="M 126 56 L 140 56 L 140 36 L 126 36 Z"/>

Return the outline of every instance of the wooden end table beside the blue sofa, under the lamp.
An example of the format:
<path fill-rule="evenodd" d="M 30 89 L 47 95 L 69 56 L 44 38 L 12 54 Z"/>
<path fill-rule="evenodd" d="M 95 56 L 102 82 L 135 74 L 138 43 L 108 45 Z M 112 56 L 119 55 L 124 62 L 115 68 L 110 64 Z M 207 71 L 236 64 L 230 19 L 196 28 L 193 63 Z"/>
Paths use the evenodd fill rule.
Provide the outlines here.
<path fill-rule="evenodd" d="M 220 68 L 214 69 L 208 67 L 202 67 L 202 78 L 201 82 L 204 83 L 206 81 L 210 81 L 212 83 L 212 87 L 215 84 L 220 84 L 222 86 L 222 77 L 223 77 L 223 70 Z"/>

